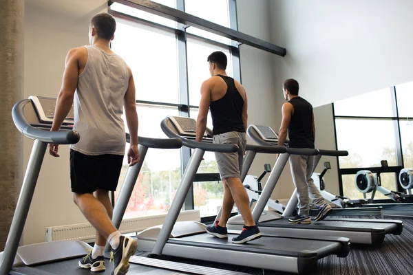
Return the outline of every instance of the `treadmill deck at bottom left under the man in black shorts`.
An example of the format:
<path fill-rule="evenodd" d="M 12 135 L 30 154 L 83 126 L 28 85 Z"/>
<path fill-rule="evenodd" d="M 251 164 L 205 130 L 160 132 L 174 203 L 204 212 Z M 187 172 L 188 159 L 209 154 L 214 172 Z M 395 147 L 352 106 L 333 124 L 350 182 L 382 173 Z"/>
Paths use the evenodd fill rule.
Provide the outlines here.
<path fill-rule="evenodd" d="M 105 272 L 91 272 L 90 270 L 85 270 L 78 266 L 79 259 L 71 259 L 68 261 L 59 261 L 54 263 L 47 263 L 45 265 L 38 265 L 36 267 L 14 267 L 10 274 L 12 275 L 90 275 L 90 274 L 111 274 L 114 270 L 114 265 L 106 261 L 106 270 Z M 177 274 L 189 274 L 189 273 L 177 273 L 172 270 L 164 270 L 156 267 L 149 267 L 146 265 L 134 265 L 131 263 L 129 267 L 129 272 L 127 274 L 145 274 L 145 275 L 177 275 Z"/>

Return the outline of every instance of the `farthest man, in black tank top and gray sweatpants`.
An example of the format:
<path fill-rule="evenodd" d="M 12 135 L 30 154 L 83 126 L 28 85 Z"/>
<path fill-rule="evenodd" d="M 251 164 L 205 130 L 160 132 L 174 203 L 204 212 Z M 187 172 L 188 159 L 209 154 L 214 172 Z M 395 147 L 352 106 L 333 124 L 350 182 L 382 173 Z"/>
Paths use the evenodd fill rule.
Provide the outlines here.
<path fill-rule="evenodd" d="M 291 148 L 315 148 L 315 122 L 313 106 L 310 102 L 298 96 L 299 85 L 297 80 L 284 81 L 284 97 L 288 102 L 282 106 L 282 124 L 279 128 L 278 144 L 284 145 L 287 131 Z M 319 209 L 315 221 L 321 221 L 332 211 L 324 201 L 319 190 L 314 184 L 311 174 L 314 170 L 314 156 L 290 155 L 290 169 L 293 181 L 297 188 L 298 208 L 297 217 L 288 219 L 289 223 L 309 224 L 310 206 L 309 195 Z M 310 193 L 310 194 L 309 194 Z"/>

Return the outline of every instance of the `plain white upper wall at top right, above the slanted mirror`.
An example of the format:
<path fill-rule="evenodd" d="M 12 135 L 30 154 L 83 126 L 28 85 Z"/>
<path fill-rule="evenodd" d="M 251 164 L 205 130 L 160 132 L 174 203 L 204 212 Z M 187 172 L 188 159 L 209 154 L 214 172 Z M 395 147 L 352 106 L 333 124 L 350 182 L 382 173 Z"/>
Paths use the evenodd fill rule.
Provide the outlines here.
<path fill-rule="evenodd" d="M 277 83 L 320 106 L 413 80 L 413 1 L 270 1 Z"/>

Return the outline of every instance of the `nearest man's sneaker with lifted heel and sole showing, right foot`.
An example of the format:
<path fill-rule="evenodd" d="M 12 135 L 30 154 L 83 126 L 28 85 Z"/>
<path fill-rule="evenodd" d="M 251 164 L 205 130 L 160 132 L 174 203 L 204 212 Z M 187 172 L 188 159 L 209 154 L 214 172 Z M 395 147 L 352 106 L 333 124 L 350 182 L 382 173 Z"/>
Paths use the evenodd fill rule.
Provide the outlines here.
<path fill-rule="evenodd" d="M 138 249 L 138 241 L 129 236 L 120 236 L 120 244 L 116 250 L 112 250 L 110 261 L 115 264 L 112 275 L 125 275 L 129 271 L 129 258 Z"/>

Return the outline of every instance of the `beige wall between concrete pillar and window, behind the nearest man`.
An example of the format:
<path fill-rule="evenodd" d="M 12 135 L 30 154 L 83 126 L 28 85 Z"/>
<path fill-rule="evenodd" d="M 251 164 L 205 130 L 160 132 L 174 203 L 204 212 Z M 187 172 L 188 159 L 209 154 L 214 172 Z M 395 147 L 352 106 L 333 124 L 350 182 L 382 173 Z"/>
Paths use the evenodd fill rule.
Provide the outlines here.
<path fill-rule="evenodd" d="M 105 10 L 105 0 L 25 1 L 24 98 L 57 96 L 67 52 L 88 43 L 90 18 Z M 31 140 L 24 139 L 24 170 L 32 144 Z M 45 241 L 47 226 L 85 222 L 72 201 L 69 147 L 61 146 L 59 153 L 59 158 L 45 155 L 23 232 L 23 244 Z"/>

